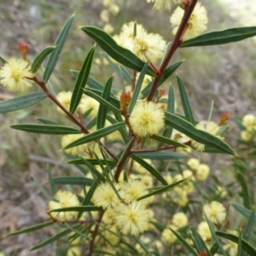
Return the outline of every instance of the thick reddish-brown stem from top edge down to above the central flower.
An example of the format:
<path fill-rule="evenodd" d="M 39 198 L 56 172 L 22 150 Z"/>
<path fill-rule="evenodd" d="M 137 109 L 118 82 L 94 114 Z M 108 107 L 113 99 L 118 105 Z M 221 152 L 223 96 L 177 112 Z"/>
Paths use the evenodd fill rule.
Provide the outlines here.
<path fill-rule="evenodd" d="M 156 73 L 156 78 L 154 79 L 154 82 L 151 86 L 151 89 L 148 93 L 147 101 L 152 101 L 154 97 L 154 93 L 157 90 L 158 84 L 160 82 L 160 78 L 162 77 L 163 73 L 166 70 L 166 67 L 168 66 L 169 62 L 172 59 L 173 54 L 177 50 L 177 48 L 183 43 L 182 38 L 185 30 L 187 29 L 187 24 L 189 22 L 189 18 L 192 15 L 193 10 L 195 9 L 195 4 L 197 3 L 197 0 L 191 0 L 187 6 L 185 6 L 185 11 L 183 15 L 183 19 L 178 26 L 177 33 L 175 37 L 173 38 L 172 46 L 170 47 L 166 58 L 163 60 L 161 66 L 160 66 L 160 73 Z"/>

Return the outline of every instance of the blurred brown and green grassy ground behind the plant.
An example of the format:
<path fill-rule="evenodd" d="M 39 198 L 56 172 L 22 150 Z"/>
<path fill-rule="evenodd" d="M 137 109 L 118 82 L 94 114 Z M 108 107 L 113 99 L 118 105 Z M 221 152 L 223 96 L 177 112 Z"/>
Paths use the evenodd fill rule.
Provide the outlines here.
<path fill-rule="evenodd" d="M 235 3 L 234 3 L 235 2 Z M 110 23 L 114 27 L 113 35 L 118 34 L 120 27 L 131 20 L 143 24 L 148 32 L 159 33 L 166 41 L 172 41 L 172 29 L 169 23 L 171 13 L 158 12 L 152 4 L 144 0 L 116 0 L 120 11 L 113 15 Z M 222 30 L 229 26 L 253 26 L 253 9 L 243 1 L 218 0 L 202 1 L 209 15 L 208 31 Z M 53 45 L 58 32 L 70 15 L 75 13 L 72 30 L 67 38 L 55 73 L 49 84 L 59 92 L 72 90 L 74 78 L 70 69 L 79 69 L 84 56 L 94 42 L 88 38 L 79 26 L 99 26 L 105 23 L 100 19 L 104 6 L 101 0 L 7 0 L 0 2 L 0 49 L 4 58 L 20 57 L 18 42 L 30 44 L 29 59 L 49 45 Z M 250 13 L 251 12 L 251 13 Z M 250 19 L 248 19 L 250 17 Z M 189 92 L 192 108 L 197 119 L 207 119 L 207 114 L 214 100 L 213 119 L 218 122 L 221 113 L 230 116 L 243 115 L 255 111 L 255 38 L 236 44 L 226 44 L 205 48 L 180 49 L 172 63 L 185 59 L 177 73 L 183 79 Z M 96 58 L 102 59 L 101 49 L 97 47 Z M 104 70 L 102 71 L 102 67 Z M 40 78 L 38 72 L 38 78 Z M 91 76 L 104 84 L 113 74 L 111 67 L 93 65 Z M 118 87 L 118 79 L 116 86 Z M 170 81 L 169 81 L 170 82 Z M 176 87 L 173 76 L 172 84 Z M 36 86 L 33 91 L 40 91 Z M 9 99 L 15 95 L 0 87 L 0 99 Z M 37 117 L 67 123 L 49 100 L 14 113 L 0 114 L 0 235 L 26 226 L 45 221 L 47 208 L 44 196 L 41 195 L 32 176 L 47 187 L 46 166 L 55 175 L 69 172 L 65 157 L 60 152 L 61 137 L 27 134 L 15 131 L 9 125 L 36 122 Z M 230 123 L 227 140 L 236 147 L 236 125 Z M 216 158 L 211 159 L 212 165 Z M 11 237 L 0 242 L 0 251 L 6 255 L 19 250 L 19 255 L 50 255 L 45 249 L 36 253 L 27 253 L 27 249 L 49 235 L 51 228 L 44 229 L 38 236 Z M 22 254 L 23 253 L 23 254 Z M 40 254 L 42 253 L 42 254 Z"/>

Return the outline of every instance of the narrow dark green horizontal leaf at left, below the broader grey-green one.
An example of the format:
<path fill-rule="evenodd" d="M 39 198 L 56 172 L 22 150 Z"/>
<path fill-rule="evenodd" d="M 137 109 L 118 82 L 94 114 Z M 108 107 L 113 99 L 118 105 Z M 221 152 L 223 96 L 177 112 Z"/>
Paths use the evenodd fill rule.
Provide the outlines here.
<path fill-rule="evenodd" d="M 11 125 L 10 127 L 13 129 L 16 129 L 16 130 L 42 133 L 42 134 L 63 135 L 63 134 L 79 134 L 79 133 L 81 133 L 81 131 L 79 131 L 73 127 L 68 127 L 68 126 L 63 126 L 63 125 L 23 124 L 23 125 Z"/>

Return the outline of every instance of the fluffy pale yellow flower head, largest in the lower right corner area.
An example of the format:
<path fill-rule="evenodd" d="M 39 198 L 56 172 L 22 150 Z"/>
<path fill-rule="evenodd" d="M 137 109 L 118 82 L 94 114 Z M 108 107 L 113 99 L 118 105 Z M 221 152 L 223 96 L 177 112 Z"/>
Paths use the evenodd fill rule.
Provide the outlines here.
<path fill-rule="evenodd" d="M 203 212 L 214 224 L 222 223 L 226 217 L 226 209 L 223 204 L 218 201 L 212 201 L 211 203 L 204 205 Z"/>

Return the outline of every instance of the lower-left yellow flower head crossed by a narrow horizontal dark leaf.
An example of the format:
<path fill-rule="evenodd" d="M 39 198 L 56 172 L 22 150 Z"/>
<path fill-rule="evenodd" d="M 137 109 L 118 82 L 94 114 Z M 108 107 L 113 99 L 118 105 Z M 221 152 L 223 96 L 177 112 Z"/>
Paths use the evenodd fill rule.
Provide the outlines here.
<path fill-rule="evenodd" d="M 78 207 L 79 199 L 70 191 L 58 191 L 55 196 L 55 201 L 49 201 L 49 211 L 64 207 Z M 78 212 L 50 212 L 51 218 L 57 219 L 58 221 L 65 222 L 76 218 Z"/>

